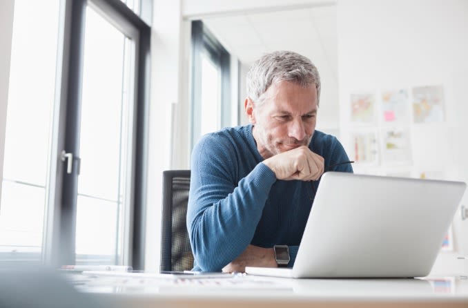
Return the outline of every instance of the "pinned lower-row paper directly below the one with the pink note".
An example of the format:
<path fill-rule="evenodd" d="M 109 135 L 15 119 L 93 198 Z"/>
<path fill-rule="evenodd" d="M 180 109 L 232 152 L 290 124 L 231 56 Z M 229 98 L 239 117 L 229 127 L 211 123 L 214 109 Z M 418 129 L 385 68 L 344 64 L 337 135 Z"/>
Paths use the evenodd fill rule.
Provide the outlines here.
<path fill-rule="evenodd" d="M 409 129 L 385 128 L 382 130 L 382 163 L 411 163 Z"/>

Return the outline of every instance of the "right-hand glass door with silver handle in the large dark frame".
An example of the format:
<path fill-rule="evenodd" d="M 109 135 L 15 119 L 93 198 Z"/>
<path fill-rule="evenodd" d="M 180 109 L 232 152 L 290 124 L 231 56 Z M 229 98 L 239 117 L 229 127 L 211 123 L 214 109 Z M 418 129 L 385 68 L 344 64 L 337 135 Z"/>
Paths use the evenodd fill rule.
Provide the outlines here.
<path fill-rule="evenodd" d="M 69 106 L 62 202 L 65 264 L 130 264 L 138 32 L 86 4 L 81 89 Z M 79 61 L 78 61 L 79 62 Z M 74 253 L 72 253 L 74 252 Z"/>

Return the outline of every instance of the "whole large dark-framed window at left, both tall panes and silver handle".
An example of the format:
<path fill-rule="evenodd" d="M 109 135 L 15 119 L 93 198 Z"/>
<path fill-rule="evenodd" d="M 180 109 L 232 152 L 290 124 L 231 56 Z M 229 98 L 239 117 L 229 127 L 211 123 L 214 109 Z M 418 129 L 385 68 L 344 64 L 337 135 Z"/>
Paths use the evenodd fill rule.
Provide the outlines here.
<path fill-rule="evenodd" d="M 15 1 L 13 32 L 0 260 L 141 269 L 150 27 L 119 1 Z"/>

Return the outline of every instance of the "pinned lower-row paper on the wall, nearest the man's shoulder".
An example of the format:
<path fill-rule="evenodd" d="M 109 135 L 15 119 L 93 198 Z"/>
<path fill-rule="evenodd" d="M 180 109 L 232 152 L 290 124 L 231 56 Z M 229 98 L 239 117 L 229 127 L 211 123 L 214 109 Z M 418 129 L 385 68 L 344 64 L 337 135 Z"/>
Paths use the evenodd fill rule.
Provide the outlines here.
<path fill-rule="evenodd" d="M 353 160 L 359 163 L 378 162 L 378 143 L 375 131 L 355 131 L 352 135 Z"/>

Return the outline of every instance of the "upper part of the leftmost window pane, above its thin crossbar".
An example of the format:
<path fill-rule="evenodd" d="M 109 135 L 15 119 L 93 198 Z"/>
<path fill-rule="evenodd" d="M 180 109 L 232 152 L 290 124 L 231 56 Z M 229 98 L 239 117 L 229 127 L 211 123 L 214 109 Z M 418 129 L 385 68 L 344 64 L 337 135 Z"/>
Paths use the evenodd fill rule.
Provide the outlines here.
<path fill-rule="evenodd" d="M 46 184 L 58 13 L 57 1 L 14 4 L 3 163 L 3 177 L 8 179 Z"/>

